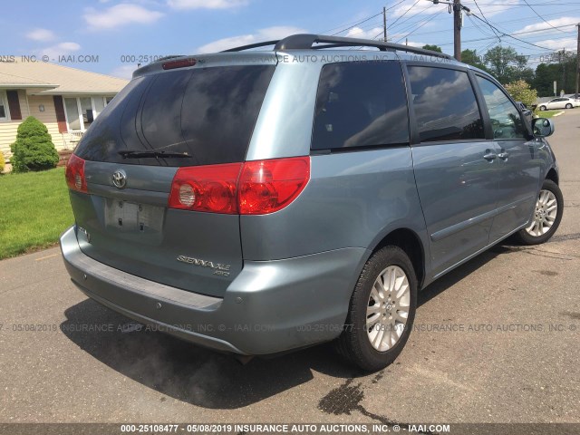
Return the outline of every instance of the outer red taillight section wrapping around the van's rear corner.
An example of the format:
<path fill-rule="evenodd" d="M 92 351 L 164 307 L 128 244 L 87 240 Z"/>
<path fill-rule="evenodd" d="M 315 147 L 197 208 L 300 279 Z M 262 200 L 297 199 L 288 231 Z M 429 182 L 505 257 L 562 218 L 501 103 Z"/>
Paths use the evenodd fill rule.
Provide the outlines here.
<path fill-rule="evenodd" d="M 309 157 L 247 161 L 237 182 L 239 212 L 265 215 L 285 208 L 309 179 Z"/>

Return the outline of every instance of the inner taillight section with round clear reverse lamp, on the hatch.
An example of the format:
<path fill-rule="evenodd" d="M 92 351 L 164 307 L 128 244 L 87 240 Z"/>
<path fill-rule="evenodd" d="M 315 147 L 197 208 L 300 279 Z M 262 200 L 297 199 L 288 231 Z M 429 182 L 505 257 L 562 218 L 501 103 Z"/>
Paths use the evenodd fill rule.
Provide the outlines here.
<path fill-rule="evenodd" d="M 241 163 L 179 168 L 169 208 L 237 214 L 236 184 Z"/>

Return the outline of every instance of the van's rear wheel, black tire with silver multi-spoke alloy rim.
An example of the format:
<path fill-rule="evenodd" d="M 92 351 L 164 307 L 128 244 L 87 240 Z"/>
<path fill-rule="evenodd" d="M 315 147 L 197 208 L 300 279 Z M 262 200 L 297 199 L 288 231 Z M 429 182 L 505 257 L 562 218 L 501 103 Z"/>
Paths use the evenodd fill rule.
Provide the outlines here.
<path fill-rule="evenodd" d="M 385 291 L 380 283 L 392 274 L 394 291 Z M 382 292 L 374 288 L 375 284 Z M 407 343 L 416 307 L 417 277 L 409 256 L 400 247 L 382 247 L 366 262 L 354 287 L 343 333 L 335 343 L 338 353 L 364 371 L 381 370 L 397 358 Z"/>

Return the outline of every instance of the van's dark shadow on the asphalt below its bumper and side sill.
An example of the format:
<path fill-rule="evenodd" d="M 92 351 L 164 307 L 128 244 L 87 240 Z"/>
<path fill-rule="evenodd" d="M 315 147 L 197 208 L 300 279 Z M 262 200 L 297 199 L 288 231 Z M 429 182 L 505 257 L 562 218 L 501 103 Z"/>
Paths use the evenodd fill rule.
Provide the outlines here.
<path fill-rule="evenodd" d="M 508 251 L 494 247 L 441 277 L 420 292 L 419 305 Z M 369 376 L 345 363 L 328 343 L 242 364 L 232 355 L 146 330 L 92 299 L 64 314 L 61 331 L 84 352 L 150 389 L 204 408 L 248 406 L 311 381 L 313 371 L 345 380 Z"/>

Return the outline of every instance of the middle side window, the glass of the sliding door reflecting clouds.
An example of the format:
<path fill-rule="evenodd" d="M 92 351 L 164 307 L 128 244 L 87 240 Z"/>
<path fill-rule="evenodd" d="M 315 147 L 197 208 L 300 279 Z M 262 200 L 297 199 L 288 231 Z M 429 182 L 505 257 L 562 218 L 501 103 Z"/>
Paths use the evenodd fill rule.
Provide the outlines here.
<path fill-rule="evenodd" d="M 421 141 L 485 138 L 467 73 L 410 66 L 409 79 Z"/>

